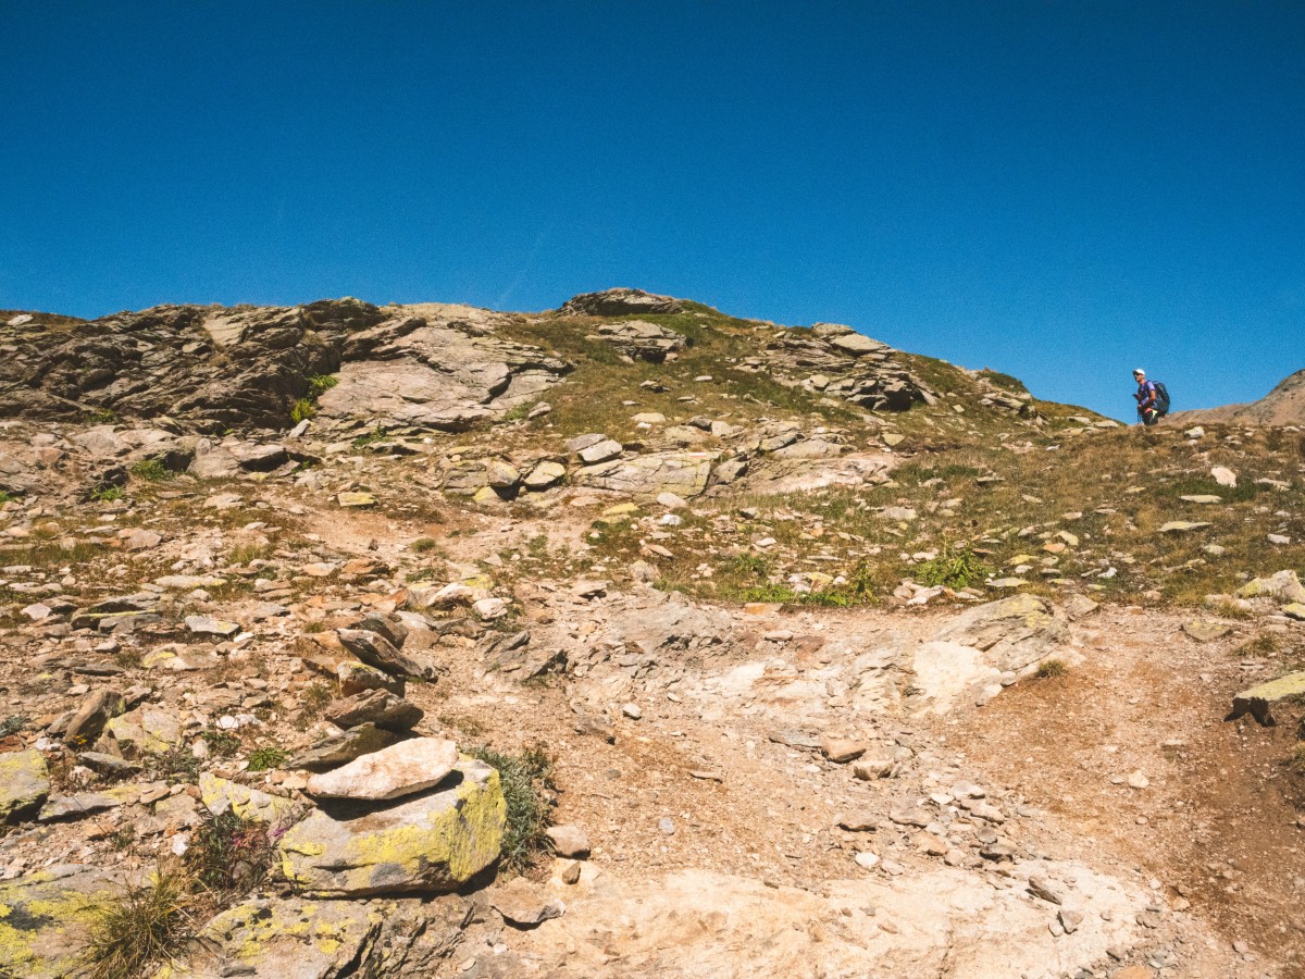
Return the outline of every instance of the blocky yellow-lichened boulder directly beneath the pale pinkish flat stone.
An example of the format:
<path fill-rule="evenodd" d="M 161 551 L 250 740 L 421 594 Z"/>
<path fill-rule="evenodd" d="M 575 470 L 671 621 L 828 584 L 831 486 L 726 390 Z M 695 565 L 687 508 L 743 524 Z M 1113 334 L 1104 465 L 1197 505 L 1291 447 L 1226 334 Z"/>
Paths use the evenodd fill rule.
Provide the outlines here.
<path fill-rule="evenodd" d="M 398 804 L 317 809 L 281 839 L 286 880 L 324 897 L 454 890 L 499 859 L 508 820 L 495 769 L 454 773 Z"/>

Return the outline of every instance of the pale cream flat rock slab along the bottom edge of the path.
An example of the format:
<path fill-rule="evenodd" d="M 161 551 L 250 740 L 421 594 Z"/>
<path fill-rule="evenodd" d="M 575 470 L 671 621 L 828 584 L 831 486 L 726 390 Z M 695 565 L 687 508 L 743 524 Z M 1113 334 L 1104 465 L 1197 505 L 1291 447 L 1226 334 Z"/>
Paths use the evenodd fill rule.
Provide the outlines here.
<path fill-rule="evenodd" d="M 1092 909 L 1073 935 L 1053 935 L 1053 912 L 1022 888 L 997 889 L 960 869 L 893 880 L 860 872 L 856 880 L 829 881 L 827 897 L 683 871 L 634 881 L 582 878 L 566 892 L 565 915 L 513 933 L 512 946 L 534 961 L 557 962 L 555 979 L 1074 975 L 1098 970 L 1112 945 L 1138 942 L 1135 916 L 1147 898 L 1081 864 L 1066 871 L 1077 880 L 1066 901 Z M 834 920 L 842 924 L 812 927 Z"/>

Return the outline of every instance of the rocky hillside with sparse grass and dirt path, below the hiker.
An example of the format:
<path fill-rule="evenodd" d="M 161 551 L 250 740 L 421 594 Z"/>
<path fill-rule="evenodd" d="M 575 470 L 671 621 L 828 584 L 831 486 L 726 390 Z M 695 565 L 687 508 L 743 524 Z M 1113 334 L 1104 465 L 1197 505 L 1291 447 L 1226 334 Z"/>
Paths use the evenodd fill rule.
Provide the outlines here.
<path fill-rule="evenodd" d="M 634 288 L 0 346 L 0 976 L 1305 969 L 1298 418 Z"/>

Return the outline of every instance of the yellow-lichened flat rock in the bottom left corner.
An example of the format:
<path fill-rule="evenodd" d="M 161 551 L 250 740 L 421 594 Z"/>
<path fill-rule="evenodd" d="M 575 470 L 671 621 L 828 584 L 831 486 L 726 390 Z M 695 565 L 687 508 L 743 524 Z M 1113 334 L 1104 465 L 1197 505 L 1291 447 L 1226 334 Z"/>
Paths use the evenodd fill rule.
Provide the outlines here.
<path fill-rule="evenodd" d="M 84 864 L 56 864 L 0 881 L 0 975 L 85 975 L 90 927 L 117 902 L 121 884 L 119 876 Z"/>

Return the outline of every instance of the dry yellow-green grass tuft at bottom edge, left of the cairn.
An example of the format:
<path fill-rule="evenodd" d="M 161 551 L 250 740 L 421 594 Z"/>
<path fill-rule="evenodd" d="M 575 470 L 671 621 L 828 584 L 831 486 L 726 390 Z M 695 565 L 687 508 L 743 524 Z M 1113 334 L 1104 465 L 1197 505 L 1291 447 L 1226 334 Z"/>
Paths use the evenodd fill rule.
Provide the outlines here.
<path fill-rule="evenodd" d="M 137 979 L 172 961 L 193 929 L 191 878 L 161 867 L 147 884 L 128 884 L 100 909 L 82 953 L 90 979 Z"/>

